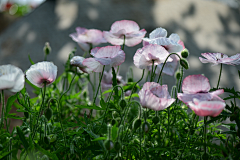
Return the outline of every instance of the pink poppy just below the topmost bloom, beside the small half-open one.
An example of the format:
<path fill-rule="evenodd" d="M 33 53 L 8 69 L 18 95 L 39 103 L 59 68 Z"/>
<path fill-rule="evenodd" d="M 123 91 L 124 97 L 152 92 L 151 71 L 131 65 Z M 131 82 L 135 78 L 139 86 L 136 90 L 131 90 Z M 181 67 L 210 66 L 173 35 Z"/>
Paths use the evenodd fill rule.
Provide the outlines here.
<path fill-rule="evenodd" d="M 120 46 L 96 47 L 90 54 L 94 58 L 86 58 L 82 64 L 94 72 L 102 72 L 104 65 L 116 67 L 125 61 L 125 53 Z"/>

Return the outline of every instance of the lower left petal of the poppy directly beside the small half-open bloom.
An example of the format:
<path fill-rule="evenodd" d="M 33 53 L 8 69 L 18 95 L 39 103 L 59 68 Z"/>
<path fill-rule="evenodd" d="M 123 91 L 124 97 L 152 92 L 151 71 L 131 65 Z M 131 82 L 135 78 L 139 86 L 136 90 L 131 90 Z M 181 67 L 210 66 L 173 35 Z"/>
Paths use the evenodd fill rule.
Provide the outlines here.
<path fill-rule="evenodd" d="M 101 63 L 96 61 L 95 58 L 86 58 L 83 61 L 83 65 L 88 67 L 89 69 L 91 69 L 94 72 L 102 72 L 102 70 L 103 70 L 103 65 L 101 65 Z"/>

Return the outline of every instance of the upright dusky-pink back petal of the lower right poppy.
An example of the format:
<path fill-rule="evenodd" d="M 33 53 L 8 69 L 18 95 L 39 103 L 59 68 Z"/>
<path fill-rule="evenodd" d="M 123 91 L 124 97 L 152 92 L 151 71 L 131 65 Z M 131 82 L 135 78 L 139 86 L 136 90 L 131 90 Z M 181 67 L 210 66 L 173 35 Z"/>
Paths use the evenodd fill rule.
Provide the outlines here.
<path fill-rule="evenodd" d="M 209 80 L 199 74 L 187 76 L 182 83 L 182 91 L 187 94 L 208 92 L 210 90 Z"/>

